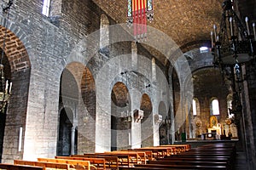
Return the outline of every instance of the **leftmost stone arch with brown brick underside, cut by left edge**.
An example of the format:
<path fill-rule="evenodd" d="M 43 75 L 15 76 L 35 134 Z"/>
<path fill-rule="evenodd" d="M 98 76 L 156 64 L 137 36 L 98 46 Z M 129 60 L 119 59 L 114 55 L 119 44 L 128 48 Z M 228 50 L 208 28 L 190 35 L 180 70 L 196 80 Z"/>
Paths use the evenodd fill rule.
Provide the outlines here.
<path fill-rule="evenodd" d="M 0 54 L 1 56 L 3 54 L 4 75 L 9 82 L 12 82 L 11 96 L 7 105 L 8 110 L 6 110 L 8 113 L 5 111 L 0 121 L 0 124 L 2 124 L 0 128 L 0 161 L 2 161 L 2 158 L 4 161 L 8 161 L 8 159 L 12 160 L 9 157 L 10 154 L 13 158 L 22 159 L 23 157 L 22 152 L 18 151 L 18 147 L 13 147 L 10 152 L 9 146 L 15 146 L 18 143 L 18 139 L 13 139 L 13 136 L 19 133 L 20 127 L 26 128 L 28 87 L 30 83 L 27 80 L 31 76 L 31 61 L 27 48 L 31 44 L 26 40 L 26 34 L 21 31 L 19 26 L 12 23 L 12 26 L 8 29 L 9 21 L 2 16 L 0 20 L 0 39 L 2 40 L 0 42 Z M 3 39 L 5 39 L 4 47 Z M 19 121 L 13 122 L 17 117 L 20 117 Z M 23 150 L 23 147 L 22 145 L 21 150 Z"/>

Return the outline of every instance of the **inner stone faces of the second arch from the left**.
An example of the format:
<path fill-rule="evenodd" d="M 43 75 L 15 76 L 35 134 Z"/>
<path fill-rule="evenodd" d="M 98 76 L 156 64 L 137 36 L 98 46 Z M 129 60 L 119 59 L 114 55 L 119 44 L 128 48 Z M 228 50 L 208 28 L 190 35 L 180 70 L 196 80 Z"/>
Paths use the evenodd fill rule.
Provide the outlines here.
<path fill-rule="evenodd" d="M 79 143 L 74 149 L 79 152 L 95 150 L 96 128 L 96 85 L 93 74 L 84 63 L 71 62 L 61 74 L 60 102 L 74 112 L 75 140 Z M 74 137 L 73 137 L 74 138 Z M 83 142 L 80 142 L 83 141 Z"/>

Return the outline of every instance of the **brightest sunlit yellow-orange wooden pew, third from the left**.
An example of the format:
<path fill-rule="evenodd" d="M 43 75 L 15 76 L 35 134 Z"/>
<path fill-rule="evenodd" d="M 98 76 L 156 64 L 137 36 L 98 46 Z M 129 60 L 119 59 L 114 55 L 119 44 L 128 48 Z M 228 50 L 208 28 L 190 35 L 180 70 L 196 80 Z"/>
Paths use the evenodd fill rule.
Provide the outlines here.
<path fill-rule="evenodd" d="M 89 170 L 90 168 L 96 169 L 96 167 L 90 165 L 90 161 L 64 160 L 64 159 L 53 159 L 53 158 L 38 158 L 38 161 L 63 163 L 63 164 L 68 164 L 73 168 L 83 167 L 84 169 L 89 169 Z"/>

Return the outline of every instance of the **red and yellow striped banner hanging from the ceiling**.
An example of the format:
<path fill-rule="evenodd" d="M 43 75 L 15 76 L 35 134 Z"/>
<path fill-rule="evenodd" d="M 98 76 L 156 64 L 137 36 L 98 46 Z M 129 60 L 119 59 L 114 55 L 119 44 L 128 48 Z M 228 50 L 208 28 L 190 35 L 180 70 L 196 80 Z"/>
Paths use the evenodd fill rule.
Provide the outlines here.
<path fill-rule="evenodd" d="M 153 0 L 128 0 L 127 25 L 136 41 L 147 37 L 147 20 L 153 20 Z"/>

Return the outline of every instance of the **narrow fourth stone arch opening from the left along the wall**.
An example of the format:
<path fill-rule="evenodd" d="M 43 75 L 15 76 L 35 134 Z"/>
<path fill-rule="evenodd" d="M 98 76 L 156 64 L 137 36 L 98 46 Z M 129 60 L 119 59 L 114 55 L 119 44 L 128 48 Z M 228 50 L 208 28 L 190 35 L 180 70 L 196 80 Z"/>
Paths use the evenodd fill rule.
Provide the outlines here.
<path fill-rule="evenodd" d="M 142 119 L 142 146 L 152 146 L 154 145 L 153 137 L 153 105 L 148 94 L 143 94 L 141 99 L 140 110 L 144 111 L 144 116 Z"/>

